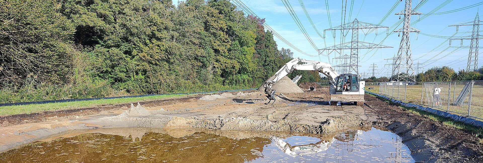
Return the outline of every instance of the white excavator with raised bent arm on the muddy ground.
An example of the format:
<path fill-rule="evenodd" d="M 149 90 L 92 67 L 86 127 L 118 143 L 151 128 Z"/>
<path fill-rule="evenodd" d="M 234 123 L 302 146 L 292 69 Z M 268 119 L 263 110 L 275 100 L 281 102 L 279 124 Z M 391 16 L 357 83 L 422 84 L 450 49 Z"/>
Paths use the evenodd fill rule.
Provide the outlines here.
<path fill-rule="evenodd" d="M 302 62 L 303 64 L 298 64 L 298 62 Z M 269 98 L 267 104 L 270 104 L 271 100 L 275 103 L 274 95 L 276 90 L 272 89 L 271 86 L 288 73 L 291 73 L 294 69 L 319 71 L 326 75 L 330 83 L 330 105 L 337 106 L 339 102 L 353 102 L 355 105 L 364 105 L 364 86 L 366 82 L 359 81 L 357 74 L 339 75 L 339 73 L 337 73 L 328 63 L 300 58 L 294 58 L 286 63 L 277 71 L 277 73 L 275 73 L 275 75 L 270 77 L 269 80 L 263 84 L 265 94 L 267 94 L 267 98 Z"/>

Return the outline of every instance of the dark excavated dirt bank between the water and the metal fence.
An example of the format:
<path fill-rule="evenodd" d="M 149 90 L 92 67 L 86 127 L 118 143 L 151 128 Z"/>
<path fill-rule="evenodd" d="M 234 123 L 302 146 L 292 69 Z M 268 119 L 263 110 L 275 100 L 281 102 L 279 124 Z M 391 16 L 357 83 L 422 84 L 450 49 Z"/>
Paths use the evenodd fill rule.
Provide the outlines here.
<path fill-rule="evenodd" d="M 380 99 L 365 95 L 366 105 L 378 115 L 374 125 L 401 136 L 415 160 L 423 163 L 483 163 L 483 146 L 470 131 L 450 128 Z M 418 159 L 416 159 L 418 158 Z"/>

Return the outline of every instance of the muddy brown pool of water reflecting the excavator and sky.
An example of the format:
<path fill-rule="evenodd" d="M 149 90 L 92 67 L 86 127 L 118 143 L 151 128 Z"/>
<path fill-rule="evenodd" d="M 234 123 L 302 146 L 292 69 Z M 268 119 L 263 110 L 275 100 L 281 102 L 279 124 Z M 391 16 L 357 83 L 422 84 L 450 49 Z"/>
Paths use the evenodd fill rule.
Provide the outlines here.
<path fill-rule="evenodd" d="M 399 136 L 375 128 L 330 136 L 226 131 L 90 130 L 0 153 L 1 163 L 413 163 Z M 253 136 L 260 135 L 260 137 Z M 69 134 L 68 134 L 69 136 Z M 253 136 L 253 137 L 250 137 Z"/>

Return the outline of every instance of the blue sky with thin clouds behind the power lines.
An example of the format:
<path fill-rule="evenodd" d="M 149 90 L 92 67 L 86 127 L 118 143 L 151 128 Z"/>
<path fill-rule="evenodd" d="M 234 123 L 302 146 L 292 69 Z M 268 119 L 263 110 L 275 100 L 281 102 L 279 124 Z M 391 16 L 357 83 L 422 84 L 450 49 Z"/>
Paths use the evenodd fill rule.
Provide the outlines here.
<path fill-rule="evenodd" d="M 266 23 L 272 27 L 277 33 L 279 33 L 284 39 L 298 47 L 300 50 L 308 53 L 316 55 L 318 54 L 317 51 L 310 45 L 309 41 L 304 37 L 300 29 L 298 28 L 295 21 L 292 19 L 290 14 L 288 13 L 287 9 L 284 6 L 282 0 L 241 0 L 246 6 L 248 6 L 255 14 L 257 14 L 261 18 L 265 18 Z M 315 24 L 316 28 L 321 32 L 324 29 L 330 28 L 328 23 L 328 16 L 326 10 L 325 0 L 302 0 L 309 15 L 311 16 L 313 23 Z M 418 3 L 421 1 L 426 0 L 412 0 L 412 7 L 414 8 Z M 478 2 L 481 0 L 427 0 L 426 3 L 421 5 L 417 11 L 421 13 L 428 13 L 431 10 L 437 8 L 444 2 L 448 2 L 447 5 L 444 5 L 436 13 L 451 11 L 455 9 L 459 9 L 462 7 L 466 7 Z M 332 37 L 330 32 L 326 33 L 326 38 L 323 39 L 319 37 L 316 31 L 311 26 L 310 22 L 308 21 L 306 15 L 304 14 L 302 8 L 300 7 L 300 3 L 298 0 L 289 0 L 291 6 L 293 7 L 295 13 L 297 14 L 300 22 L 302 23 L 303 27 L 316 44 L 316 46 L 321 49 L 326 47 L 324 41 L 326 41 L 327 46 L 332 46 L 335 44 L 341 43 L 341 35 L 340 31 L 337 31 L 336 38 Z M 389 16 L 381 23 L 382 26 L 386 27 L 396 27 L 396 29 L 402 27 L 402 24 L 397 24 L 399 21 L 399 15 L 395 15 L 399 11 L 404 9 L 405 0 L 354 0 L 354 7 L 352 8 L 352 15 L 349 20 L 349 14 L 351 11 L 351 0 L 347 0 L 347 12 L 346 12 L 346 23 L 349 21 L 353 21 L 354 18 L 357 18 L 358 21 L 371 23 L 371 24 L 378 24 L 386 15 L 389 10 L 392 8 L 393 5 L 397 4 L 397 7 L 394 11 L 392 11 Z M 332 26 L 339 26 L 341 25 L 341 0 L 328 0 L 329 6 L 329 13 L 330 13 L 330 20 L 332 22 Z M 458 11 L 450 14 L 440 14 L 440 15 L 429 15 L 424 19 L 423 15 L 412 15 L 411 21 L 415 22 L 418 19 L 421 19 L 419 22 L 412 25 L 422 33 L 430 34 L 430 35 L 438 35 L 438 36 L 453 36 L 456 32 L 456 27 L 448 27 L 449 25 L 454 25 L 457 23 L 462 22 L 469 22 L 473 21 L 476 13 L 478 12 L 478 8 L 482 7 L 477 6 L 470 9 L 466 9 L 463 11 Z M 482 15 L 483 13 L 480 13 Z M 402 19 L 402 17 L 401 17 Z M 466 27 L 459 27 L 459 32 L 471 32 L 472 26 Z M 364 31 L 359 30 L 359 41 L 371 42 L 371 43 L 381 43 L 386 37 L 386 31 L 378 30 L 378 35 L 375 35 L 375 32 L 368 33 L 365 35 L 364 33 L 367 32 L 368 29 L 364 29 Z M 390 29 L 391 30 L 391 29 Z M 480 29 L 482 30 L 482 29 Z M 389 31 L 389 33 L 394 33 Z M 471 33 L 456 33 L 455 36 L 467 36 Z M 450 52 L 455 51 L 453 54 L 449 54 L 446 57 L 442 57 L 440 60 L 431 63 L 432 61 L 428 61 L 427 64 L 422 65 L 424 69 L 432 68 L 432 67 L 441 67 L 441 66 L 450 66 L 454 68 L 456 71 L 458 69 L 465 69 L 467 65 L 468 53 L 469 49 L 459 49 L 459 48 L 448 48 L 449 41 L 447 39 L 442 38 L 433 38 L 428 37 L 423 34 L 416 34 L 411 33 L 411 46 L 412 46 L 412 58 L 413 62 L 417 63 L 424 63 L 434 57 L 432 60 L 440 59 L 442 56 L 449 54 Z M 350 41 L 351 34 L 349 33 L 345 41 Z M 290 48 L 286 45 L 283 41 L 280 41 L 278 38 L 275 38 L 277 41 L 278 48 Z M 398 53 L 399 43 L 401 41 L 401 37 L 398 37 L 398 33 L 391 34 L 387 36 L 387 38 L 381 44 L 392 46 L 394 48 L 383 48 L 383 49 L 360 49 L 359 50 L 359 73 L 362 74 L 363 72 L 369 72 L 369 66 L 372 63 L 377 64 L 380 74 L 376 76 L 390 76 L 390 66 L 384 66 L 385 64 L 389 64 L 392 62 L 391 60 L 384 60 L 386 58 L 391 58 L 395 54 Z M 453 41 L 452 46 L 460 46 L 461 41 Z M 439 46 L 440 45 L 440 46 Z M 438 47 L 439 46 L 439 47 Z M 469 40 L 463 41 L 463 46 L 469 46 Z M 322 62 L 331 62 L 332 65 L 340 64 L 340 61 L 333 58 L 339 56 L 341 54 L 332 53 L 327 56 L 317 56 L 311 57 L 304 54 L 301 54 L 295 50 L 294 57 L 301 57 L 309 60 L 319 60 Z M 428 54 L 428 52 L 431 52 Z M 482 51 L 483 52 L 483 51 Z M 349 50 L 345 50 L 344 54 L 350 53 Z M 480 59 L 481 61 L 482 59 Z M 431 63 L 431 64 L 428 64 Z M 480 66 L 483 66 L 479 64 Z"/>

